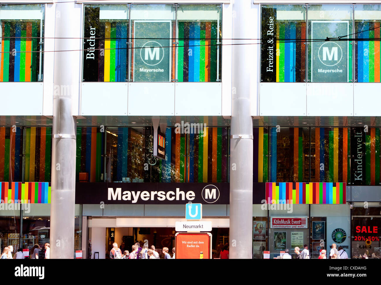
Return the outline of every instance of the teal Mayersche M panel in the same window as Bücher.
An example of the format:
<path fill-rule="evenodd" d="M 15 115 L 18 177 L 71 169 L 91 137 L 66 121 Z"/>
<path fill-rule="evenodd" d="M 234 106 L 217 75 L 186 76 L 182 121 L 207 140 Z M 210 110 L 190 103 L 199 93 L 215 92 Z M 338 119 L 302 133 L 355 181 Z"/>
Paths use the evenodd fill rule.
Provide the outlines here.
<path fill-rule="evenodd" d="M 170 81 L 170 21 L 134 21 L 133 81 Z"/>

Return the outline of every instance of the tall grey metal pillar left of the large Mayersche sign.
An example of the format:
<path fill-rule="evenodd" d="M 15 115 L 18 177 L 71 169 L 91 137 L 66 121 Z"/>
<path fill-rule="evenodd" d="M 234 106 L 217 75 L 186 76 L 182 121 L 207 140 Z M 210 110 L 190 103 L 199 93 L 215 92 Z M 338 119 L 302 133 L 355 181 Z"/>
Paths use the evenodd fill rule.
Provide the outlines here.
<path fill-rule="evenodd" d="M 67 1 L 67 3 L 66 3 Z M 71 0 L 56 4 L 54 50 L 80 49 L 70 35 Z M 78 40 L 77 40 L 78 41 Z M 76 47 L 76 48 L 75 48 Z M 76 119 L 72 116 L 73 52 L 54 53 L 53 144 L 51 166 L 50 258 L 74 258 L 75 140 Z"/>

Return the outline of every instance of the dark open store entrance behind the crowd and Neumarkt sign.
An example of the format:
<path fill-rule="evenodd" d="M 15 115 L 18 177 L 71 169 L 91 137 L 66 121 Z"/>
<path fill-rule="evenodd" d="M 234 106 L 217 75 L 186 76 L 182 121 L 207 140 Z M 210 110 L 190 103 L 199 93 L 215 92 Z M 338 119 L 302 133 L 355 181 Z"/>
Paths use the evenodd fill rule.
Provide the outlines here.
<path fill-rule="evenodd" d="M 224 245 L 229 246 L 229 228 L 212 229 L 212 258 L 219 258 L 219 253 Z M 115 227 L 106 228 L 106 259 L 109 258 L 112 244 L 116 242 L 121 252 L 131 252 L 132 246 L 139 242 L 140 246 L 154 245 L 160 258 L 164 258 L 162 249 L 167 247 L 173 257 L 172 249 L 175 247 L 175 228 L 171 227 Z"/>

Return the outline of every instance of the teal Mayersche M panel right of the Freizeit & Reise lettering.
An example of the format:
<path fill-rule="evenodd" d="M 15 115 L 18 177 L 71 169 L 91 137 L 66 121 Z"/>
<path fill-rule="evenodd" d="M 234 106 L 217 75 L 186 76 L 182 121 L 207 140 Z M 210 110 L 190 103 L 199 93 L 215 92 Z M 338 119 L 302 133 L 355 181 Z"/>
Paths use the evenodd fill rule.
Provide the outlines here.
<path fill-rule="evenodd" d="M 314 41 L 348 34 L 348 21 L 311 21 L 311 82 L 348 82 L 349 41 Z"/>

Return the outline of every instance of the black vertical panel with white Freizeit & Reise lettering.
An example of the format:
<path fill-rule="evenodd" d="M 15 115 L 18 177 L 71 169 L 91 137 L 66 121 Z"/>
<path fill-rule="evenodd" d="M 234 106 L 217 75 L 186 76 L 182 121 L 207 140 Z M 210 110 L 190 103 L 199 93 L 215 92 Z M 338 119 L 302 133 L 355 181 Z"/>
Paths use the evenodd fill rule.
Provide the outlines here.
<path fill-rule="evenodd" d="M 262 8 L 261 19 L 261 81 L 276 82 L 277 9 Z"/>

